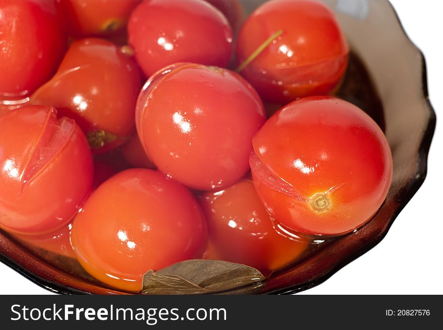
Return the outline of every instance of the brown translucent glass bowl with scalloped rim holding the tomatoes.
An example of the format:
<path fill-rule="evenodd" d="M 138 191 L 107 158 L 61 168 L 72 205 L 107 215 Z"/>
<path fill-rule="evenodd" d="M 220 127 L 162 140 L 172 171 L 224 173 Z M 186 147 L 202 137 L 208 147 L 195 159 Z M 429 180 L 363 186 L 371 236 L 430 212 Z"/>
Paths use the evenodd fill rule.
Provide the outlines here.
<path fill-rule="evenodd" d="M 243 0 L 245 13 L 263 0 Z M 386 201 L 356 232 L 322 245 L 296 266 L 272 274 L 261 293 L 294 293 L 316 286 L 377 245 L 426 176 L 435 127 L 422 53 L 406 36 L 387 0 L 324 0 L 336 13 L 351 48 L 349 66 L 335 95 L 370 114 L 385 131 L 394 174 Z M 31 251 L 0 232 L 0 260 L 57 293 L 124 294 L 76 270 L 76 262 Z M 64 270 L 58 268 L 61 265 Z"/>

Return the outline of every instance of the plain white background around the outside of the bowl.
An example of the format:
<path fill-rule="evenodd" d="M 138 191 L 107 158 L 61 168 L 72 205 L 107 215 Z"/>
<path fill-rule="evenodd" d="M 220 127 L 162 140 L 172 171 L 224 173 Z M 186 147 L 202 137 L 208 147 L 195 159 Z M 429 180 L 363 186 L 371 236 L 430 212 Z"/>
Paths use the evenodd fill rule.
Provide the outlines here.
<path fill-rule="evenodd" d="M 378 1 L 378 0 L 375 0 Z M 437 121 L 443 115 L 443 6 L 439 0 L 391 0 L 410 39 L 426 57 Z M 401 56 L 401 54 L 399 54 Z M 443 130 L 439 122 L 428 176 L 388 235 L 325 283 L 301 294 L 443 294 Z M 441 128 L 443 129 L 443 128 Z M 0 294 L 50 294 L 0 263 Z"/>

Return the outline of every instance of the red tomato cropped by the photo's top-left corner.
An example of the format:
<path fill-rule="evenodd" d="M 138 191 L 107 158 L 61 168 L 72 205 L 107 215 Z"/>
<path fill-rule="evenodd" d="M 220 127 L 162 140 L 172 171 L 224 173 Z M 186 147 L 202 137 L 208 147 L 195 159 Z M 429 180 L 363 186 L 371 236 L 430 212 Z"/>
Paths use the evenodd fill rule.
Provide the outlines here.
<path fill-rule="evenodd" d="M 0 98 L 51 78 L 66 49 L 55 0 L 0 0 Z"/>

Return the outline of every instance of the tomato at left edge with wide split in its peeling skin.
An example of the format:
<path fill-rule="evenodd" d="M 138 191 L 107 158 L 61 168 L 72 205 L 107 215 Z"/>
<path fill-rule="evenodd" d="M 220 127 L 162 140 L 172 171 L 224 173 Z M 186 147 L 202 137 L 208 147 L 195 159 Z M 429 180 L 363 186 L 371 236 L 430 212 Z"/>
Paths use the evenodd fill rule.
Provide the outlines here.
<path fill-rule="evenodd" d="M 27 106 L 0 117 L 0 226 L 42 234 L 65 225 L 91 191 L 88 143 L 54 108 Z"/>

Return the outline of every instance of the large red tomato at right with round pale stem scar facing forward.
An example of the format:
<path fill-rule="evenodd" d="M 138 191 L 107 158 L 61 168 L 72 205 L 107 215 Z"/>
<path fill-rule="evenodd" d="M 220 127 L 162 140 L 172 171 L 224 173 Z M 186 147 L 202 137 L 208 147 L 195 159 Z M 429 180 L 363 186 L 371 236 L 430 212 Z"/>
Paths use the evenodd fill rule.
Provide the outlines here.
<path fill-rule="evenodd" d="M 332 97 L 294 101 L 253 139 L 252 177 L 272 218 L 314 235 L 350 232 L 378 211 L 392 178 L 382 130 Z"/>

